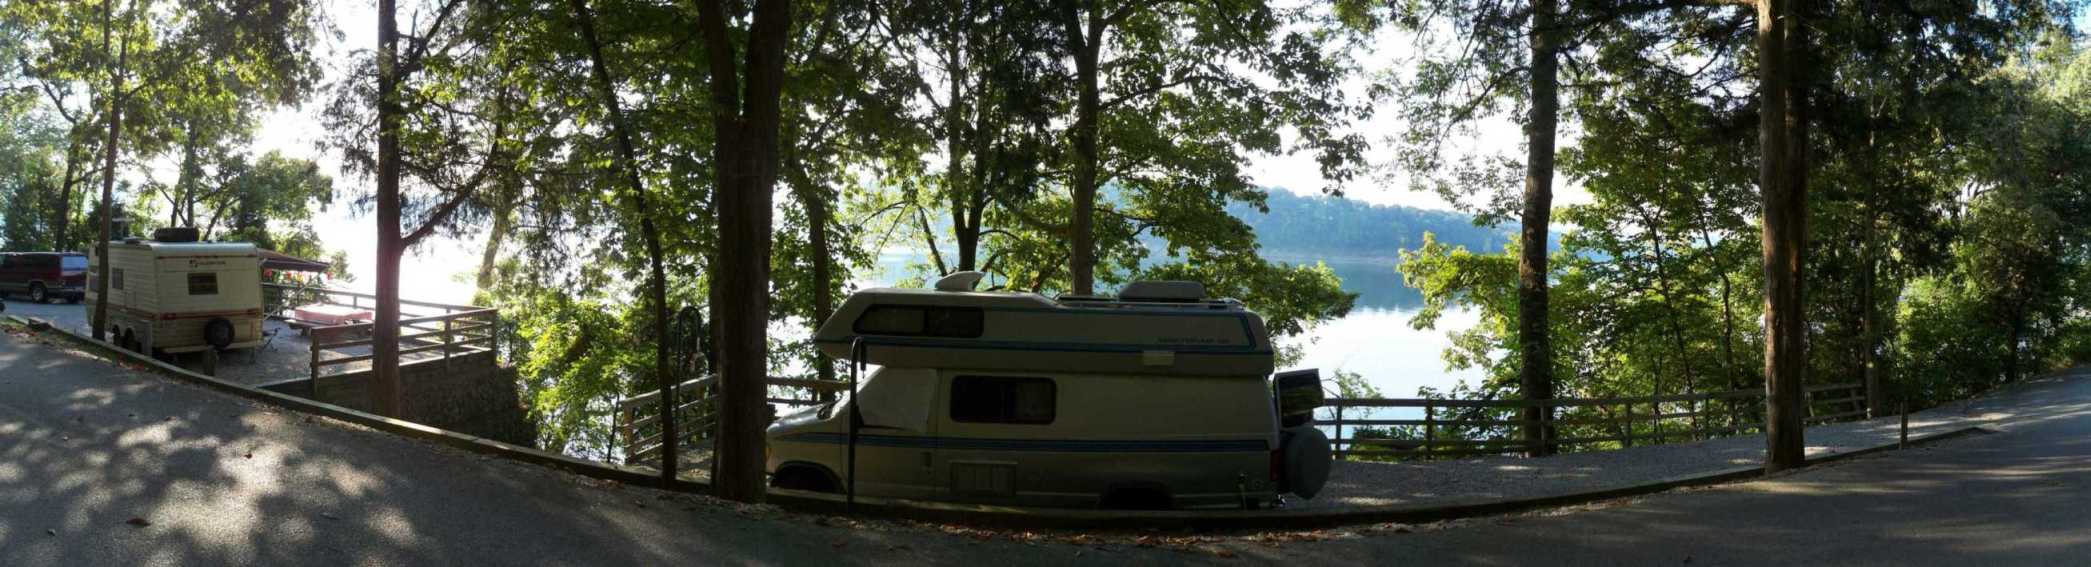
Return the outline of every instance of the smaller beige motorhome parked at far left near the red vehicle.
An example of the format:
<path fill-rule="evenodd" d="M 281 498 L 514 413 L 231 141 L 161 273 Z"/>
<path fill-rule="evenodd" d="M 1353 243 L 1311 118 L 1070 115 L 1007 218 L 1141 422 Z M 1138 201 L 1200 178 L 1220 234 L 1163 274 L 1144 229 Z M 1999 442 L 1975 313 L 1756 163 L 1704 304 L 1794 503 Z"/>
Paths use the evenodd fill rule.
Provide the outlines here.
<path fill-rule="evenodd" d="M 88 257 L 100 274 L 102 257 Z M 88 312 L 102 297 L 88 285 Z M 251 243 L 109 243 L 109 339 L 144 354 L 261 345 L 261 257 Z"/>

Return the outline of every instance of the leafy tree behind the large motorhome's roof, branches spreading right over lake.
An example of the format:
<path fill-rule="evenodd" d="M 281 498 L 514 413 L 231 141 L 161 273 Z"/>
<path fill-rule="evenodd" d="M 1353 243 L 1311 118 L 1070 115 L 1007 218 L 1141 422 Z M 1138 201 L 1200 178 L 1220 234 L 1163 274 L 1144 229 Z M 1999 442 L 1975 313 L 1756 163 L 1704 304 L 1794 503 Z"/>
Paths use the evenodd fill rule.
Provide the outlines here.
<path fill-rule="evenodd" d="M 1261 0 L 1056 0 L 1056 8 L 1075 67 L 1064 211 L 1073 293 L 1096 293 L 1104 259 L 1121 272 L 1138 266 L 1129 239 L 1112 236 L 1131 232 L 1125 216 L 1102 201 L 1186 199 L 1194 188 L 1261 201 L 1240 174 L 1242 153 L 1313 153 L 1330 190 L 1355 174 L 1363 138 L 1347 126 L 1370 109 L 1345 98 L 1338 80 L 1349 61 L 1324 50 L 1324 33 L 1303 31 L 1305 8 Z M 1100 201 L 1106 186 L 1123 190 Z"/>

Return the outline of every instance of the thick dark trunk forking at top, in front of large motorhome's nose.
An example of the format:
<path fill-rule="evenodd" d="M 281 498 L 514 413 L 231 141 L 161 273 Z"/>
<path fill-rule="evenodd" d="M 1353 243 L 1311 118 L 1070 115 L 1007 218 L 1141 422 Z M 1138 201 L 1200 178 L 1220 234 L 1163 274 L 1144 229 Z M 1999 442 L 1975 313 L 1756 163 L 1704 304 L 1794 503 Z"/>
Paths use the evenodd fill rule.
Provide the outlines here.
<path fill-rule="evenodd" d="M 763 429 L 769 425 L 769 190 L 776 184 L 784 42 L 790 0 L 759 0 L 749 25 L 746 92 L 734 63 L 723 0 L 698 2 L 713 94 L 713 180 L 719 259 L 713 322 L 719 337 L 719 437 L 713 492 L 763 500 Z"/>

